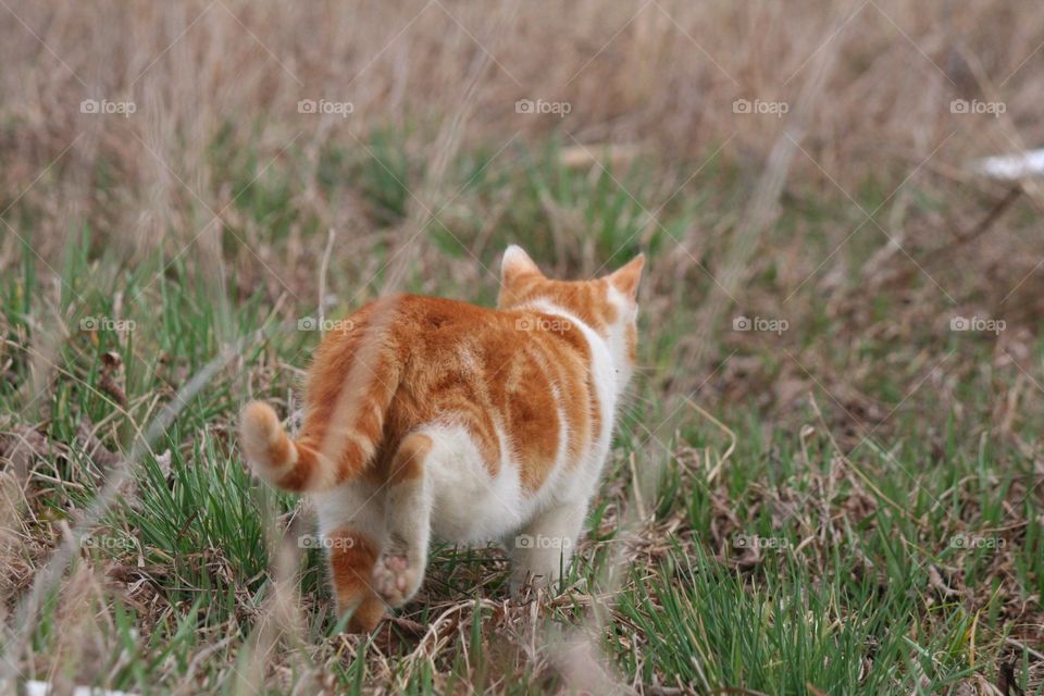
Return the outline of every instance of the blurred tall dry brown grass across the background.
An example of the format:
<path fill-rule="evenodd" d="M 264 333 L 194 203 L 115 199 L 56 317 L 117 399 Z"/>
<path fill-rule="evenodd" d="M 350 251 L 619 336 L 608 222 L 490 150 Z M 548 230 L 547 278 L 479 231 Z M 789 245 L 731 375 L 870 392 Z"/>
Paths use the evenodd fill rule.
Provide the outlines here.
<path fill-rule="evenodd" d="M 781 120 L 742 117 L 734 99 L 791 100 L 824 49 L 840 52 L 809 115 L 798 162 L 809 179 L 842 186 L 1012 149 L 1044 133 L 1039 41 L 1044 14 L 1008 2 L 163 3 L 0 8 L 4 167 L 11 202 L 25 194 L 42 220 L 34 245 L 70 234 L 71 212 L 140 247 L 191 238 L 233 191 L 208 148 L 235 124 L 235 142 L 264 160 L 291 142 L 311 153 L 352 147 L 374 124 L 422 123 L 415 147 L 445 160 L 461 142 L 540 139 L 634 144 L 664 166 L 724 145 L 751 166 Z M 17 18 L 16 18 L 17 17 Z M 957 97 L 997 98 L 1005 119 L 955 119 Z M 79 112 L 83 99 L 133 100 L 130 119 Z M 350 100 L 348 119 L 297 112 L 299 99 Z M 557 117 L 515 113 L 517 99 L 564 100 Z M 431 126 L 442 134 L 431 138 Z M 451 191 L 434 173 L 425 206 Z M 898 176 L 895 174 L 894 176 Z M 99 191 L 99 179 L 110 184 Z M 181 181 L 178 181 L 181 179 Z M 198 196 L 198 199 L 196 198 Z M 352 201 L 308 197 L 324 223 L 351 228 Z M 364 231 L 356 229 L 356 234 Z M 204 246 L 210 234 L 204 234 Z M 57 241 L 55 241 L 57 240 Z M 8 244 L 11 244 L 10 241 Z M 174 241 L 172 241 L 174 244 Z"/>

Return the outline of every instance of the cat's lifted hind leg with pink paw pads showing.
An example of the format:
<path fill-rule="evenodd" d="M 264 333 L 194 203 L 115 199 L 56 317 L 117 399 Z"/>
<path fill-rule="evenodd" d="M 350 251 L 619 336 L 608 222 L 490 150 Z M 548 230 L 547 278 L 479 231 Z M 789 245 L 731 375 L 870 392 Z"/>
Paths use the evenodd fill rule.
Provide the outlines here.
<path fill-rule="evenodd" d="M 388 472 L 387 544 L 374 563 L 373 586 L 391 607 L 409 601 L 424 580 L 434 502 L 424 462 L 431 450 L 432 438 L 427 435 L 407 435 Z"/>

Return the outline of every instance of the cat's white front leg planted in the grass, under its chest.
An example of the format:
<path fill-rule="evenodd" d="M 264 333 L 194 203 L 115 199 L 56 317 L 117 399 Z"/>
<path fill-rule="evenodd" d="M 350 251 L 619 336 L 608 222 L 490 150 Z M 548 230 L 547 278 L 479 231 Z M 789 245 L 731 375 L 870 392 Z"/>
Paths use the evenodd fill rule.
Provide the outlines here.
<path fill-rule="evenodd" d="M 549 587 L 569 570 L 586 514 L 586 501 L 557 504 L 507 539 L 512 595 L 526 584 Z"/>

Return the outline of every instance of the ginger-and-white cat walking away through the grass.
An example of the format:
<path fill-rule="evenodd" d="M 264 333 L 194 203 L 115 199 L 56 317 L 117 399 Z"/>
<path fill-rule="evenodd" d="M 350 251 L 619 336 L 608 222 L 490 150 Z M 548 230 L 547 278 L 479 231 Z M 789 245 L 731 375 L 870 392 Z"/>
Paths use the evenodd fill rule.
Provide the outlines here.
<path fill-rule="evenodd" d="M 388 297 L 327 333 L 299 439 L 269 405 L 247 405 L 254 472 L 314 498 L 349 631 L 413 597 L 433 534 L 504 539 L 512 592 L 560 576 L 634 365 L 643 264 L 552 281 L 511 246 L 496 310 Z"/>

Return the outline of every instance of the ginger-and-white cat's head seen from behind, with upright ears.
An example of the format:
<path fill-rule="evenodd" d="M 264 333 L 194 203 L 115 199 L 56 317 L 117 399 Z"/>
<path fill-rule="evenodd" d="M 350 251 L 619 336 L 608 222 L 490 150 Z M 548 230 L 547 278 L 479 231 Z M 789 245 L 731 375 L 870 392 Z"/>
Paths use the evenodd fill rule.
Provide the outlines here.
<path fill-rule="evenodd" d="M 500 265 L 497 307 L 515 309 L 552 304 L 575 315 L 606 338 L 623 382 L 637 360 L 638 282 L 645 257 L 593 281 L 555 281 L 545 276 L 521 247 L 511 245 Z"/>

